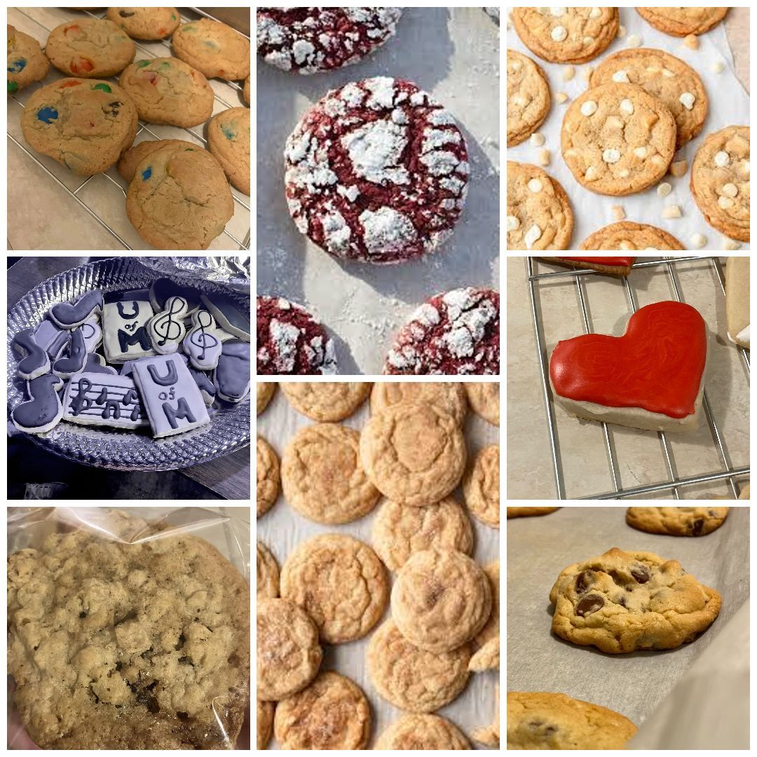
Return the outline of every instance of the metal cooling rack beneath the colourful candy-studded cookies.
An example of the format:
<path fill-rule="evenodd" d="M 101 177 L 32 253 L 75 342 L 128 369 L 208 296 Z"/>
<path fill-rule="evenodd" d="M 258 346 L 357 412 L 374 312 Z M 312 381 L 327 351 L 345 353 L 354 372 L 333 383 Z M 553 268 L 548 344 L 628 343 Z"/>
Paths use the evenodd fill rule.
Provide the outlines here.
<path fill-rule="evenodd" d="M 41 29 L 44 29 L 48 33 L 48 35 L 52 31 L 51 28 L 49 28 L 48 26 L 45 26 L 45 24 L 40 23 L 39 20 L 37 20 L 36 18 L 33 18 L 32 16 L 30 16 L 30 14 L 28 14 L 26 12 L 25 8 L 14 8 L 14 10 L 17 11 L 17 12 L 19 12 L 20 14 L 23 14 L 24 16 L 26 16 L 27 19 L 29 19 L 31 22 L 35 23 Z M 214 21 L 219 20 L 216 17 L 211 16 L 210 14 L 207 14 L 204 11 L 199 10 L 198 8 L 189 8 L 189 10 L 195 12 L 196 14 L 198 14 L 198 16 L 203 16 L 205 18 L 210 18 L 210 19 L 212 19 Z M 83 12 L 86 13 L 88 16 L 92 17 L 92 18 L 104 18 L 105 17 L 104 11 L 99 11 L 98 13 L 92 13 L 90 11 L 86 11 L 85 10 Z M 188 16 L 185 16 L 182 13 L 179 13 L 179 16 L 181 17 L 182 23 L 188 23 L 189 21 L 196 20 L 194 18 L 189 18 Z M 64 23 L 64 21 L 65 21 L 65 19 L 61 20 L 61 23 Z M 241 34 L 241 32 L 238 32 L 238 33 Z M 246 34 L 242 34 L 242 36 L 245 37 L 246 39 L 250 39 Z M 141 53 L 145 56 L 145 58 L 160 58 L 161 57 L 160 55 L 154 55 L 154 51 L 148 51 L 142 45 L 142 43 L 141 43 L 141 41 L 139 39 L 132 39 L 132 42 L 134 42 L 134 44 L 137 47 L 137 50 L 141 51 Z M 164 55 L 162 57 L 166 57 L 166 58 L 171 57 L 170 39 L 156 40 L 155 44 L 160 44 L 164 48 L 167 49 L 166 55 Z M 55 70 L 55 67 L 51 66 L 51 70 Z M 61 78 L 63 76 L 66 76 L 66 74 L 61 73 Z M 111 76 L 109 78 L 114 83 L 116 83 L 116 84 L 118 83 L 117 76 Z M 227 84 L 232 89 L 236 89 L 238 92 L 241 92 L 241 87 L 238 85 L 238 83 L 236 83 L 236 82 L 226 82 L 226 81 L 224 83 Z M 224 100 L 220 95 L 217 94 L 217 92 L 215 92 L 215 90 L 213 90 L 213 95 L 216 98 L 216 100 L 219 101 L 220 104 L 222 104 L 225 108 L 236 107 L 238 105 L 238 103 L 230 103 L 230 102 Z M 9 99 L 13 99 L 21 107 L 25 107 L 24 104 L 20 100 L 18 100 L 15 96 L 12 97 L 12 98 L 9 98 Z M 137 129 L 137 133 L 136 133 L 136 136 L 135 136 L 135 139 L 134 139 L 134 143 L 135 144 L 136 144 L 136 138 L 140 134 L 142 134 L 142 132 L 145 132 L 145 133 L 149 134 L 152 137 L 152 139 L 164 139 L 164 138 L 162 138 L 160 136 L 157 136 L 157 134 L 153 131 L 153 129 L 151 128 L 151 126 L 152 126 L 152 124 L 142 123 L 142 121 L 140 120 L 140 122 L 139 122 L 139 128 Z M 192 128 L 187 128 L 187 129 L 184 129 L 184 130 L 186 132 L 188 132 L 189 134 L 191 134 L 196 139 L 199 139 L 204 144 L 204 146 L 207 148 L 207 139 L 205 139 L 205 137 L 203 136 L 203 133 L 202 133 L 203 132 L 203 126 L 204 126 L 204 123 L 201 123 L 199 126 L 193 126 Z M 193 131 L 193 129 L 198 129 L 198 131 Z M 95 173 L 94 176 L 83 176 L 82 177 L 83 182 L 81 184 L 79 184 L 76 188 L 73 188 L 73 189 L 69 188 L 69 187 L 67 187 L 64 184 L 64 182 L 61 181 L 61 179 L 58 179 L 58 176 L 55 176 L 55 173 L 52 173 L 52 171 L 47 166 L 45 166 L 45 164 L 43 164 L 41 160 L 39 160 L 39 157 L 37 157 L 37 155 L 30 148 L 28 148 L 24 142 L 21 142 L 18 139 L 16 139 L 10 132 L 8 133 L 8 137 L 14 142 L 14 144 L 18 145 L 18 147 L 20 147 L 32 160 L 34 160 L 34 162 L 40 168 L 42 168 L 42 170 L 44 170 L 45 173 L 47 173 L 48 176 L 50 176 L 50 178 L 56 184 L 58 184 L 59 187 L 61 187 L 65 192 L 67 192 L 68 195 L 70 195 L 71 197 L 73 197 L 76 200 L 76 202 L 79 203 L 79 205 L 81 207 L 83 207 L 83 209 L 86 210 L 87 213 L 89 213 L 89 215 L 95 221 L 97 221 L 100 224 L 100 226 L 102 226 L 103 229 L 105 229 L 108 233 L 110 233 L 119 242 L 119 244 L 123 246 L 124 250 L 132 250 L 133 249 L 132 247 L 129 247 L 128 243 L 125 240 L 123 240 L 123 238 L 120 237 L 120 235 L 116 232 L 115 229 L 113 229 L 101 217 L 99 217 L 98 214 L 95 213 L 95 210 L 92 210 L 92 208 L 89 207 L 89 205 L 86 204 L 86 202 L 83 201 L 83 199 L 79 196 L 79 192 L 82 192 L 83 188 L 85 188 L 86 185 L 95 176 L 104 176 L 105 179 L 107 179 L 109 182 L 111 182 L 114 185 L 114 187 L 116 187 L 118 189 L 118 191 L 121 192 L 121 194 L 123 195 L 124 201 L 126 201 L 126 190 L 119 184 L 119 182 L 116 181 L 116 179 L 114 179 L 112 176 L 108 176 L 107 173 Z M 174 138 L 172 137 L 171 139 L 174 139 Z M 73 176 L 73 174 L 72 174 L 72 176 Z M 250 204 L 249 204 L 248 200 L 244 199 L 245 195 L 241 195 L 240 193 L 238 193 L 237 190 L 233 186 L 229 185 L 229 187 L 232 190 L 232 197 L 234 198 L 234 203 L 236 205 L 244 208 L 249 213 L 250 212 Z M 233 218 L 233 216 L 232 216 L 232 218 Z M 227 227 L 228 227 L 228 224 L 227 224 Z M 248 227 L 247 235 L 245 235 L 244 239 L 238 239 L 235 235 L 232 234 L 232 232 L 229 232 L 228 228 L 223 229 L 223 235 L 226 235 L 226 237 L 228 237 L 229 240 L 231 240 L 234 243 L 234 245 L 235 245 L 235 248 L 229 247 L 229 248 L 225 248 L 225 249 L 229 249 L 229 250 L 231 250 L 231 249 L 237 249 L 237 250 L 248 250 L 249 251 L 249 249 L 250 249 L 250 229 L 249 229 L 249 227 Z M 8 248 L 10 249 L 10 244 L 8 245 Z M 148 249 L 151 249 L 151 248 L 148 248 Z"/>

